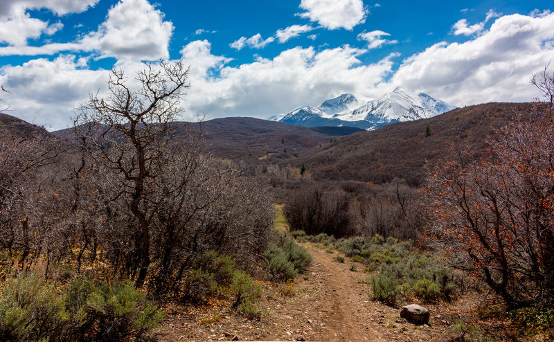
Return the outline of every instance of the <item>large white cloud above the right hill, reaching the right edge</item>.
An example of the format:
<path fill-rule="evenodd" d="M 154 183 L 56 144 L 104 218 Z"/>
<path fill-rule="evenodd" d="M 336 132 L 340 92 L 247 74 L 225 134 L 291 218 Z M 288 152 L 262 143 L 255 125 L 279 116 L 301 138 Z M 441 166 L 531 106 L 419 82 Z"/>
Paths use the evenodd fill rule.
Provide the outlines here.
<path fill-rule="evenodd" d="M 402 63 L 392 82 L 454 105 L 528 101 L 528 81 L 554 55 L 554 14 L 507 15 L 462 44 L 442 42 Z"/>

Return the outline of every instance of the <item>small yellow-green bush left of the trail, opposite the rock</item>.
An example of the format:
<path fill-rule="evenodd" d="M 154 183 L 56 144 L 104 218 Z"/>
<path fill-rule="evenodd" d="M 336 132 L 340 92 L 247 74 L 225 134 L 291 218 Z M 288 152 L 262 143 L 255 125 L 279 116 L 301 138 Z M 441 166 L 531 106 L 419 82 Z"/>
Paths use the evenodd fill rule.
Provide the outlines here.
<path fill-rule="evenodd" d="M 262 294 L 262 287 L 252 281 L 252 277 L 243 271 L 235 271 L 231 291 L 235 296 L 232 307 L 250 319 L 260 319 L 261 310 L 256 305 Z"/>

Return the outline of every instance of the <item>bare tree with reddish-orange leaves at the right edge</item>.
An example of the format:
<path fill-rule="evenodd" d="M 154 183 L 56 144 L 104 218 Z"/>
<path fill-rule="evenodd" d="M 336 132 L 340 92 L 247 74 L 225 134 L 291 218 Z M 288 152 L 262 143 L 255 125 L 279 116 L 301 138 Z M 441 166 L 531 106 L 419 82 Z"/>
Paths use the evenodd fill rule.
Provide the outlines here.
<path fill-rule="evenodd" d="M 498 129 L 488 158 L 454 151 L 426 189 L 432 241 L 512 309 L 554 302 L 553 81 L 533 77 L 546 107 Z"/>

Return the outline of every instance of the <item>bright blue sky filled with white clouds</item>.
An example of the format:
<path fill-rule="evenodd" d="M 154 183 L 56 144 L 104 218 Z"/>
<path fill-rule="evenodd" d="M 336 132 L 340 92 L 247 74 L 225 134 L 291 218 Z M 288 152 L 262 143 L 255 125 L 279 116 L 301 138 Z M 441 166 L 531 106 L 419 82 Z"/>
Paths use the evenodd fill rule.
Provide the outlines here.
<path fill-rule="evenodd" d="M 552 1 L 0 0 L 0 109 L 71 126 L 109 70 L 183 60 L 182 120 L 267 118 L 395 87 L 463 107 L 533 100 Z M 554 63 L 551 66 L 554 69 Z"/>

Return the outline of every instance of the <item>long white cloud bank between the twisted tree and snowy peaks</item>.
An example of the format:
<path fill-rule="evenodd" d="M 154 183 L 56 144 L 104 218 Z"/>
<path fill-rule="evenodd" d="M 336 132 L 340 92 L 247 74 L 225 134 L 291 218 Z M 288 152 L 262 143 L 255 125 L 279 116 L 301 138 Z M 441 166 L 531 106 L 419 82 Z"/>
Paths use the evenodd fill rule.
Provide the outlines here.
<path fill-rule="evenodd" d="M 265 118 L 310 103 L 319 105 L 343 92 L 372 96 L 376 84 L 391 73 L 395 55 L 364 65 L 357 57 L 366 52 L 350 46 L 319 53 L 312 47 L 296 47 L 273 59 L 259 57 L 231 67 L 226 66 L 226 58 L 211 54 L 209 42 L 191 42 L 181 51 L 184 62 L 193 68 L 187 113 L 190 118 L 198 113 L 208 113 L 208 118 Z"/>

